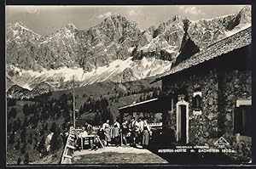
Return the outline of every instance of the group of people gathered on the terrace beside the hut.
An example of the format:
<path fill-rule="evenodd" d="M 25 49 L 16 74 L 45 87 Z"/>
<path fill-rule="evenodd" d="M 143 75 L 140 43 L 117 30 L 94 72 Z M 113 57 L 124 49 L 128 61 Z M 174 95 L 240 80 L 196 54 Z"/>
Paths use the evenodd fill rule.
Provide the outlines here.
<path fill-rule="evenodd" d="M 110 126 L 110 121 L 107 120 L 97 131 L 90 124 L 85 123 L 78 137 L 85 138 L 88 135 L 95 135 L 105 146 L 109 146 L 110 144 L 115 146 L 125 144 L 137 148 L 147 148 L 149 135 L 151 134 L 152 132 L 148 125 L 147 118 L 139 117 L 137 121 L 137 118 L 132 117 L 131 121 L 125 120 L 121 125 L 118 120 L 114 120 L 112 127 Z M 78 139 L 78 144 L 81 144 L 80 140 L 83 139 Z M 100 146 L 99 140 L 95 139 L 92 146 L 92 149 L 97 149 Z"/>

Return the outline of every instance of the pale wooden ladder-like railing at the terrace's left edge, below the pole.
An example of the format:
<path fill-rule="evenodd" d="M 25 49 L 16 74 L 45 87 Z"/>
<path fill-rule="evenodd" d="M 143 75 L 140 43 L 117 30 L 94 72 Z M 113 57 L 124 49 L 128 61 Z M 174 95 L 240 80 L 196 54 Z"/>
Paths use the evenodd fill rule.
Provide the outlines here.
<path fill-rule="evenodd" d="M 67 143 L 65 145 L 62 157 L 61 157 L 61 164 L 72 164 L 73 162 L 73 153 L 75 150 L 75 129 L 70 127 Z"/>

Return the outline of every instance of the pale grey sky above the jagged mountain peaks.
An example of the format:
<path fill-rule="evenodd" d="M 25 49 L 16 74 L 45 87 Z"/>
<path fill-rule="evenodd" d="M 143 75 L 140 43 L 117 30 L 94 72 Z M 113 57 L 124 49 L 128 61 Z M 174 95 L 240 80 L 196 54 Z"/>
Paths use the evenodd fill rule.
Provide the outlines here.
<path fill-rule="evenodd" d="M 22 22 L 29 29 L 47 35 L 73 23 L 86 30 L 113 14 L 136 21 L 141 30 L 171 20 L 175 14 L 189 20 L 212 19 L 238 13 L 244 5 L 152 5 L 152 6 L 7 6 L 6 23 Z"/>

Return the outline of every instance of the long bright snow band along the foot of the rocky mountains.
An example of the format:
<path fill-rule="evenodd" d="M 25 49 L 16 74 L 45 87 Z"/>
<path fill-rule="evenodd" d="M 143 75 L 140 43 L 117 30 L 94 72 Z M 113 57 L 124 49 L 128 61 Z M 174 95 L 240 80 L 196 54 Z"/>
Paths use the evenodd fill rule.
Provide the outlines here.
<path fill-rule="evenodd" d="M 132 57 L 122 60 L 116 59 L 109 65 L 94 68 L 91 71 L 85 71 L 79 67 L 67 68 L 61 67 L 57 70 L 22 70 L 10 66 L 11 70 L 19 72 L 15 75 L 14 82 L 20 87 L 32 90 L 32 86 L 40 82 L 46 82 L 52 87 L 61 87 L 62 82 L 72 82 L 73 76 L 75 82 L 79 83 L 79 86 L 92 84 L 94 82 L 113 81 L 119 82 L 120 79 L 116 79 L 117 76 L 125 76 L 125 73 L 130 73 L 129 79 L 143 79 L 148 76 L 156 76 L 170 70 L 172 62 L 164 61 L 155 58 L 143 58 L 142 60 L 132 61 Z M 129 71 L 127 70 L 129 69 Z M 127 70 L 127 71 L 125 71 Z M 131 72 L 132 71 L 132 72 Z M 130 77 L 131 76 L 131 77 Z M 61 89 L 61 88 L 59 88 Z"/>

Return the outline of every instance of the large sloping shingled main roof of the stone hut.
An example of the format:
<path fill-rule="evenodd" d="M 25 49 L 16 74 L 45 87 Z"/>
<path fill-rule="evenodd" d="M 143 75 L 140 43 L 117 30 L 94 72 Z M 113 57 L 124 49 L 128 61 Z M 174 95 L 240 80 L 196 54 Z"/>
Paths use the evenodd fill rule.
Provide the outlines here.
<path fill-rule="evenodd" d="M 236 34 L 226 37 L 218 42 L 203 48 L 199 53 L 194 54 L 189 59 L 183 60 L 180 64 L 173 67 L 171 70 L 159 76 L 154 82 L 160 81 L 165 76 L 173 75 L 179 71 L 189 69 L 195 65 L 202 64 L 209 59 L 214 59 L 223 54 L 228 54 L 238 48 L 245 47 L 252 42 L 252 27 L 248 27 Z"/>

